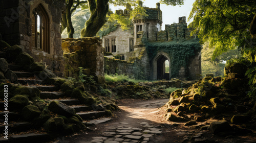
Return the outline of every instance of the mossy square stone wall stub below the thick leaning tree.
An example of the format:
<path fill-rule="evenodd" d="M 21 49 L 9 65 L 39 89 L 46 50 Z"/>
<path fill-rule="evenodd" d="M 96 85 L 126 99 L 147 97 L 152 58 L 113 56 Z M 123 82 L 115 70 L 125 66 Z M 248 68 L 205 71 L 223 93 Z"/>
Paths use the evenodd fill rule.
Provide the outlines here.
<path fill-rule="evenodd" d="M 104 76 L 104 48 L 99 37 L 62 39 L 62 50 L 66 64 L 66 76 L 75 77 L 78 67 L 83 67 L 84 74 Z"/>

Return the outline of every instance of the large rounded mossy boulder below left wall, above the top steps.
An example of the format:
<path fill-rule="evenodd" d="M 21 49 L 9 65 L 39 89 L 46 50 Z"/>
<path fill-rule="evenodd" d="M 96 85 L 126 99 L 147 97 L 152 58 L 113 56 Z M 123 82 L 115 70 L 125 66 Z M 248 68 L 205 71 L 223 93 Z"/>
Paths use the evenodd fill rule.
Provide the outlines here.
<path fill-rule="evenodd" d="M 19 45 L 13 45 L 7 48 L 5 52 L 9 60 L 15 61 L 17 56 L 22 53 L 22 47 Z"/>

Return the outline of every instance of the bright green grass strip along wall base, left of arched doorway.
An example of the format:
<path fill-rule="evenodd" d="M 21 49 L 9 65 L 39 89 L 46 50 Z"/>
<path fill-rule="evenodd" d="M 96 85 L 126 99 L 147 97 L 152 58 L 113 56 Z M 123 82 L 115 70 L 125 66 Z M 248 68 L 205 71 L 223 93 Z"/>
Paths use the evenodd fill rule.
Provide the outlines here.
<path fill-rule="evenodd" d="M 105 81 L 106 82 L 151 82 L 151 81 L 146 81 L 146 80 L 136 80 L 136 79 L 132 79 L 129 78 L 129 76 L 125 76 L 125 75 L 106 75 L 105 74 Z"/>

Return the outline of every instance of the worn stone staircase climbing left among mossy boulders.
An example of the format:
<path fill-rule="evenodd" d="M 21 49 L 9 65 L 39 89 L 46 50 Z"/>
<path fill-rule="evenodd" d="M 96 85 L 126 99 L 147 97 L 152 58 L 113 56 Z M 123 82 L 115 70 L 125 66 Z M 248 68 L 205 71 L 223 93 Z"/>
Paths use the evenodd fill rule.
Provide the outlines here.
<path fill-rule="evenodd" d="M 0 53 L 0 58 L 2 58 Z M 8 61 L 9 62 L 9 61 Z M 111 118 L 101 118 L 105 115 L 105 111 L 94 111 L 95 108 L 82 105 L 77 99 L 70 99 L 65 97 L 65 92 L 60 91 L 53 85 L 45 85 L 43 80 L 39 80 L 33 73 L 21 70 L 21 67 L 9 63 L 9 68 L 18 77 L 17 83 L 25 86 L 36 87 L 40 90 L 40 98 L 46 101 L 59 101 L 75 109 L 78 115 L 83 119 L 86 126 L 99 124 L 110 121 Z M 1 110 L 3 111 L 4 102 L 0 102 Z M 94 109 L 94 110 L 93 110 Z M 0 112 L 0 130 L 4 130 L 4 112 Z M 92 121 L 90 121 L 92 120 Z M 33 129 L 31 123 L 24 122 L 20 119 L 20 115 L 15 112 L 8 113 L 8 139 L 4 138 L 3 134 L 0 135 L 0 143 L 2 142 L 47 142 L 53 139 L 49 134 L 44 131 L 37 131 Z M 35 133 L 36 132 L 36 133 Z"/>

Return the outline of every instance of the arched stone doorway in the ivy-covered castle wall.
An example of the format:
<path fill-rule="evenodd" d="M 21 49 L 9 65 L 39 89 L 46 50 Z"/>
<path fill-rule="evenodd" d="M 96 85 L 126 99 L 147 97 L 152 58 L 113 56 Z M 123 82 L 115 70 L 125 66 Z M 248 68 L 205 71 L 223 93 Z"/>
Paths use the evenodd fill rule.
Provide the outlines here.
<path fill-rule="evenodd" d="M 170 58 L 167 53 L 158 53 L 153 60 L 153 80 L 169 80 L 170 75 Z"/>

